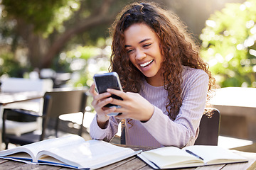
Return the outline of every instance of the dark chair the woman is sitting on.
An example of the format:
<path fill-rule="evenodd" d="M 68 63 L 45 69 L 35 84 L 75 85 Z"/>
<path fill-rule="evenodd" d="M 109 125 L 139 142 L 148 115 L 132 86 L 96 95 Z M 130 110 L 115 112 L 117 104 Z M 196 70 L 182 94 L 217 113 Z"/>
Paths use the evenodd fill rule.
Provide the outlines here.
<path fill-rule="evenodd" d="M 125 127 L 122 122 L 120 142 L 125 145 Z M 199 135 L 195 145 L 218 145 L 220 130 L 220 111 L 216 108 L 206 108 L 199 125 Z"/>

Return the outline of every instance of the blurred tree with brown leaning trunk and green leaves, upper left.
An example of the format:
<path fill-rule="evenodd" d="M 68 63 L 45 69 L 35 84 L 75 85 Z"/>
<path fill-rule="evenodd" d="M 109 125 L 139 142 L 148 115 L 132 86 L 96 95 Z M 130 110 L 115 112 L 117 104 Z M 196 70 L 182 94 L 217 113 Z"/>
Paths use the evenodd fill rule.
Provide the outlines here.
<path fill-rule="evenodd" d="M 1 1 L 2 19 L 12 23 L 14 31 L 12 50 L 25 42 L 31 66 L 39 69 L 51 67 L 53 58 L 75 35 L 82 35 L 77 39 L 84 42 L 87 38 L 93 42 L 92 38 L 107 37 L 107 27 L 124 4 L 125 1 L 117 0 Z M 96 26 L 104 31 L 92 29 Z"/>

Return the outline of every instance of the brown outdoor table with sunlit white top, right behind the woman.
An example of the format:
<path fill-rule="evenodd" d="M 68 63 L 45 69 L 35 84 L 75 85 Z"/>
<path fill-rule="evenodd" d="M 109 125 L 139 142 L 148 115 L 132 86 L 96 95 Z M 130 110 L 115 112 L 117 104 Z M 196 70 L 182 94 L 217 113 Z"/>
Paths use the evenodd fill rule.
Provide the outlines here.
<path fill-rule="evenodd" d="M 256 88 L 216 90 L 210 103 L 220 111 L 220 135 L 256 141 Z"/>

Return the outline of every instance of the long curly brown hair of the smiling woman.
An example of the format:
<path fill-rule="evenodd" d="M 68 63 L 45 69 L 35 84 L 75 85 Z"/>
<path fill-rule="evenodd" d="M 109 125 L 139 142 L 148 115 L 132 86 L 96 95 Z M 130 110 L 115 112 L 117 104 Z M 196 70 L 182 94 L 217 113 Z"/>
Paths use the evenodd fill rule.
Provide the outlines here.
<path fill-rule="evenodd" d="M 132 62 L 124 47 L 124 30 L 135 23 L 149 26 L 160 39 L 161 55 L 164 61 L 164 88 L 168 91 L 169 102 L 166 111 L 170 118 L 176 118 L 182 104 L 181 83 L 182 65 L 202 69 L 208 74 L 208 92 L 215 84 L 215 79 L 208 70 L 208 64 L 199 57 L 199 47 L 188 33 L 186 26 L 171 11 L 166 11 L 154 3 L 134 3 L 123 8 L 112 26 L 112 55 L 110 72 L 117 72 L 124 91 L 139 93 L 144 74 Z M 210 97 L 210 93 L 208 93 Z"/>

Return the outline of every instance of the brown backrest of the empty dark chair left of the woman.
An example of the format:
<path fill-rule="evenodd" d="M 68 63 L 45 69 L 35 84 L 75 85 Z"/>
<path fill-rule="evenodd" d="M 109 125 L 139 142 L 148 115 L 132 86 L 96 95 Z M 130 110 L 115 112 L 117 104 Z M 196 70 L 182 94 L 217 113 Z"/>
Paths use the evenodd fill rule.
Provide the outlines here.
<path fill-rule="evenodd" d="M 48 128 L 48 124 L 55 129 L 55 133 L 57 135 L 60 115 L 81 112 L 83 113 L 83 122 L 86 102 L 87 95 L 85 89 L 46 92 L 43 100 L 43 127 L 41 139 L 46 135 L 46 128 Z M 52 125 L 53 122 L 55 122 L 55 125 Z M 81 134 L 82 124 L 80 126 L 79 135 Z"/>

